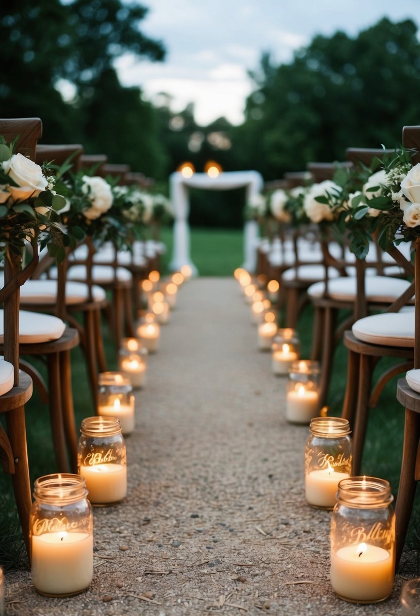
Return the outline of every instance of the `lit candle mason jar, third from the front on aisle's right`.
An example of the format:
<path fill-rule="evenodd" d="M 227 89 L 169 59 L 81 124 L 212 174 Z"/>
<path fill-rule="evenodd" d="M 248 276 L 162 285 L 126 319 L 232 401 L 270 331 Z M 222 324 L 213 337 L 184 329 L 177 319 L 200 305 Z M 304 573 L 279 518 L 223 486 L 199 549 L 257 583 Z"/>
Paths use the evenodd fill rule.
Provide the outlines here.
<path fill-rule="evenodd" d="M 299 360 L 289 368 L 286 392 L 286 419 L 290 423 L 309 424 L 320 413 L 320 367 L 318 362 Z"/>

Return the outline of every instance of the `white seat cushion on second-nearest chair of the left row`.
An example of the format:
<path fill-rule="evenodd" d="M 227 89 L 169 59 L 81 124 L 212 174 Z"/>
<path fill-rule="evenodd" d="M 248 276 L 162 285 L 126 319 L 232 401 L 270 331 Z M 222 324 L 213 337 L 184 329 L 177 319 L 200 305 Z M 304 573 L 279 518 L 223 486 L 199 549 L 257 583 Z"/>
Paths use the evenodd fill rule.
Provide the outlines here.
<path fill-rule="evenodd" d="M 0 342 L 3 342 L 3 310 L 0 310 Z M 19 310 L 19 342 L 49 342 L 58 340 L 63 335 L 66 324 L 49 314 Z"/>

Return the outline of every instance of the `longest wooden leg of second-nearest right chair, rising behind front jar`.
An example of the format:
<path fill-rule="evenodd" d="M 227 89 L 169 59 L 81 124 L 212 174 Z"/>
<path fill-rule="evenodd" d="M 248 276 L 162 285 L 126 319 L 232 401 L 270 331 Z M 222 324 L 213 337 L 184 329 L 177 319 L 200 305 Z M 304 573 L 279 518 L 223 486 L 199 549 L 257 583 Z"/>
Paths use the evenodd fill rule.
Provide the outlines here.
<path fill-rule="evenodd" d="M 366 426 L 368 424 L 369 399 L 372 385 L 373 359 L 360 355 L 357 408 L 353 428 L 353 475 L 360 474 L 361 457 L 365 447 Z"/>

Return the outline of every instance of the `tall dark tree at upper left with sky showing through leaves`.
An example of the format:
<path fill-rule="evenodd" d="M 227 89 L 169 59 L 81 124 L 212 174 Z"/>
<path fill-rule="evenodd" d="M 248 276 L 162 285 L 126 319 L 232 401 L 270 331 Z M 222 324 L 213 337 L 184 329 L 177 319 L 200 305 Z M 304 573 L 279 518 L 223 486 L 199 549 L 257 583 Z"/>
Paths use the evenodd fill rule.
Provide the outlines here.
<path fill-rule="evenodd" d="M 122 0 L 4 3 L 2 115 L 39 116 L 44 142 L 80 142 L 86 152 L 105 153 L 135 171 L 142 164 L 148 174 L 159 170 L 164 153 L 151 136 L 155 109 L 139 88 L 121 86 L 114 67 L 124 53 L 163 60 L 163 44 L 139 30 L 147 10 Z"/>

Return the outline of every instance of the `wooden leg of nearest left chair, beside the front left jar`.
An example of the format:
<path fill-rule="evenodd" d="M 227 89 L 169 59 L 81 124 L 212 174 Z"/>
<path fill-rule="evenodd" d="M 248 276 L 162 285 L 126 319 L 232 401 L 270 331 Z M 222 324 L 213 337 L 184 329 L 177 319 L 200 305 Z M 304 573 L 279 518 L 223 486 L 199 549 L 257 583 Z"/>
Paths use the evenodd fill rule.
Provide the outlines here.
<path fill-rule="evenodd" d="M 25 540 L 26 553 L 31 562 L 29 541 L 29 517 L 31 511 L 31 483 L 28 466 L 28 448 L 26 445 L 25 407 L 18 407 L 6 413 L 7 436 L 15 458 L 15 472 L 12 485 L 15 494 L 17 512 Z"/>

